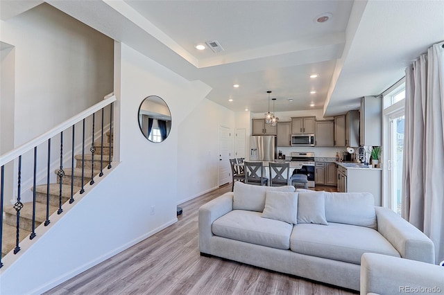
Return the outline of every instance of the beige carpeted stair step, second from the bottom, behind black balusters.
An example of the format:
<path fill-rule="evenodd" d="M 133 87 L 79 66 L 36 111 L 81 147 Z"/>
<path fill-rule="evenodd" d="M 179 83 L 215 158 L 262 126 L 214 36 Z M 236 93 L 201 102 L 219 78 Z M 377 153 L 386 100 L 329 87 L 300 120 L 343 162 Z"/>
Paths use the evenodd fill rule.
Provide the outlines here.
<path fill-rule="evenodd" d="M 56 212 L 58 206 L 49 205 L 49 215 Z M 17 211 L 13 205 L 8 205 L 3 208 L 5 213 L 4 222 L 11 226 L 16 226 L 17 224 Z M 39 226 L 42 222 L 46 220 L 46 204 L 35 202 L 35 227 Z M 33 230 L 33 203 L 23 203 L 23 208 L 20 210 L 20 229 L 25 229 L 26 231 Z"/>

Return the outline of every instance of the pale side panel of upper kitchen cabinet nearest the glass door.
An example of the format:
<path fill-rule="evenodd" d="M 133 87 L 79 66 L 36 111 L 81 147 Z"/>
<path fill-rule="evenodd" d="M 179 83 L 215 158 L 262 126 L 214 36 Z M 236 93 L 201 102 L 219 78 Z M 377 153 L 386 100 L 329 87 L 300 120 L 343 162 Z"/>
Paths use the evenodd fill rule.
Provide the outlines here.
<path fill-rule="evenodd" d="M 382 145 L 382 99 L 376 96 L 364 96 L 359 112 L 360 145 Z"/>

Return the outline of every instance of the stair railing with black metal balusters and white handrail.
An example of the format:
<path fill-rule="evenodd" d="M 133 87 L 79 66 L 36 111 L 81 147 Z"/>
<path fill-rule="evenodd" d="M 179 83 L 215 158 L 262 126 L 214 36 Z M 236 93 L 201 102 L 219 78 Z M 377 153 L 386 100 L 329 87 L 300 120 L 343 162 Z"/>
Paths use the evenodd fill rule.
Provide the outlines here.
<path fill-rule="evenodd" d="M 113 138 L 113 120 L 112 120 L 112 111 L 113 111 L 113 104 L 114 101 L 116 100 L 115 96 L 110 96 L 108 98 L 106 98 L 105 100 L 103 100 L 102 102 L 99 102 L 98 104 L 94 105 L 93 107 L 90 107 L 89 109 L 86 109 L 85 111 L 81 112 L 80 114 L 74 116 L 73 118 L 65 121 L 64 123 L 58 125 L 57 127 L 51 129 L 49 132 L 46 132 L 44 134 L 42 134 L 41 136 L 38 136 L 37 138 L 35 138 L 33 141 L 30 141 L 28 143 L 25 143 L 24 145 L 17 147 L 15 150 L 12 150 L 11 152 L 8 152 L 4 155 L 0 156 L 0 249 L 3 245 L 3 222 L 8 222 L 8 220 L 10 220 L 10 217 L 5 218 L 6 214 L 8 213 L 8 216 L 12 214 L 12 210 L 10 209 L 15 209 L 15 215 L 16 215 L 16 222 L 15 222 L 15 248 L 13 249 L 13 253 L 17 254 L 21 249 L 19 246 L 20 241 L 22 240 L 21 234 L 22 232 L 26 232 L 24 231 L 26 226 L 22 226 L 22 216 L 24 215 L 24 213 L 22 213 L 22 211 L 25 212 L 25 210 L 22 210 L 24 208 L 24 206 L 32 206 L 32 217 L 29 217 L 31 219 L 31 229 L 28 229 L 27 231 L 31 231 L 29 238 L 31 240 L 33 240 L 33 238 L 35 238 L 35 236 L 37 235 L 37 233 L 35 232 L 36 226 L 38 224 L 40 224 L 40 222 L 37 221 L 37 202 L 40 203 L 40 200 L 37 200 L 37 194 L 42 194 L 42 193 L 38 193 L 37 192 L 37 187 L 38 186 L 44 186 L 46 184 L 46 198 L 43 199 L 42 206 L 46 206 L 46 210 L 44 213 L 46 213 L 46 217 L 44 217 L 44 222 L 42 222 L 43 226 L 48 226 L 51 222 L 50 217 L 54 212 L 51 212 L 55 209 L 55 205 L 57 203 L 58 208 L 56 209 L 56 212 L 58 214 L 62 214 L 63 213 L 63 205 L 65 202 L 69 202 L 69 204 L 72 204 L 73 202 L 75 202 L 74 199 L 74 195 L 76 195 L 77 191 L 79 191 L 79 193 L 84 193 L 85 192 L 85 145 L 87 144 L 85 141 L 85 137 L 88 133 L 88 143 L 89 143 L 89 138 L 91 138 L 91 148 L 89 149 L 89 151 L 91 152 L 91 175 L 90 175 L 90 181 L 89 181 L 89 185 L 92 186 L 94 184 L 94 177 L 96 175 L 94 175 L 94 168 L 98 168 L 94 166 L 94 160 L 97 159 L 97 157 L 94 157 L 97 149 L 96 149 L 96 143 L 94 143 L 94 140 L 96 139 L 96 137 L 101 137 L 100 138 L 100 144 L 101 144 L 101 157 L 100 157 L 100 172 L 98 173 L 99 177 L 103 177 L 103 163 L 105 163 L 105 165 L 108 166 L 108 169 L 110 169 L 111 166 L 111 161 L 112 161 L 112 138 Z M 104 117 L 105 117 L 105 108 L 110 109 L 110 125 L 109 126 L 105 126 L 104 125 Z M 101 116 L 101 125 L 100 125 L 100 130 L 98 131 L 99 134 L 96 134 L 96 114 L 98 116 Z M 76 138 L 76 124 L 81 123 L 82 127 L 83 127 L 83 132 L 81 134 L 81 138 Z M 86 123 L 88 123 L 88 130 L 86 129 Z M 64 145 L 64 132 L 69 132 L 69 130 L 71 130 L 71 155 L 69 155 L 69 157 L 65 157 L 64 155 L 64 150 L 63 150 L 63 145 Z M 108 159 L 104 159 L 103 154 L 105 151 L 105 143 L 104 143 L 104 130 L 106 130 L 108 133 L 108 141 L 109 141 L 109 150 L 108 150 L 108 154 L 109 157 Z M 58 137 L 58 134 L 60 134 L 60 137 Z M 53 193 L 54 190 L 51 190 L 51 166 L 54 166 L 54 164 L 51 165 L 51 163 L 54 163 L 55 159 L 51 159 L 51 138 L 54 141 L 57 141 L 60 138 L 60 161 L 58 161 L 58 170 L 56 170 L 56 180 L 58 181 L 58 194 L 54 195 L 56 197 L 51 198 L 51 193 Z M 69 141 L 69 137 L 68 137 L 68 141 Z M 78 143 L 78 141 L 80 141 L 80 143 Z M 45 153 L 40 153 L 41 155 L 37 154 L 37 150 L 38 148 L 42 148 L 42 144 L 47 143 L 47 154 Z M 76 146 L 81 145 L 81 147 L 78 147 L 78 150 L 81 150 L 81 159 L 80 159 L 80 165 L 76 165 L 77 167 L 75 167 L 75 161 L 76 157 Z M 26 153 L 27 152 L 31 152 L 33 151 L 33 160 L 31 161 L 27 161 L 26 159 L 28 159 L 28 157 L 26 157 Z M 65 159 L 64 158 L 69 158 L 69 159 Z M 52 160 L 52 161 L 51 161 Z M 77 159 L 78 160 L 78 159 Z M 39 163 L 44 163 L 44 161 L 47 161 L 46 165 L 40 167 L 39 168 Z M 8 173 L 10 174 L 11 171 L 10 170 L 14 170 L 11 169 L 12 166 L 8 166 L 8 171 L 6 171 L 5 167 L 6 165 L 8 165 L 9 163 L 13 164 L 12 166 L 15 166 L 15 163 L 17 163 L 17 178 L 12 177 L 12 186 L 17 185 L 17 195 L 15 197 L 12 197 L 12 195 L 8 195 L 8 197 L 11 197 L 11 199 L 14 199 L 14 205 L 13 206 L 7 206 L 5 203 L 5 197 L 6 197 L 6 193 L 10 194 L 13 193 L 9 189 L 8 192 L 5 191 L 5 180 L 6 179 L 10 179 L 11 177 L 7 177 Z M 99 163 L 97 163 L 99 165 Z M 67 178 L 67 166 L 71 166 L 71 177 L 69 177 L 69 179 Z M 33 168 L 33 172 L 30 173 L 32 175 L 26 175 L 26 173 L 28 172 L 28 170 L 24 170 L 22 168 L 22 166 L 26 167 L 26 168 Z M 45 168 L 46 166 L 46 168 Z M 80 167 L 79 167 L 80 166 Z M 13 168 L 13 167 L 12 167 Z M 43 168 L 43 169 L 41 169 Z M 80 190 L 78 188 L 78 186 L 76 187 L 75 181 L 78 179 L 78 175 L 76 176 L 76 168 L 80 168 L 81 169 L 81 177 L 80 177 Z M 46 171 L 45 171 L 46 170 Z M 54 171 L 54 170 L 52 170 Z M 37 174 L 38 172 L 40 172 L 40 178 L 39 179 L 39 174 Z M 45 176 L 46 175 L 46 176 Z M 28 179 L 31 181 L 32 180 L 32 186 L 30 187 L 30 189 L 32 190 L 32 201 L 31 202 L 24 202 L 24 200 L 22 199 L 22 190 L 24 189 L 24 177 L 28 177 Z M 64 180 L 65 179 L 65 180 Z M 87 180 L 86 180 L 87 181 Z M 70 188 L 65 188 L 67 186 L 67 184 L 69 184 L 70 182 Z M 9 186 L 8 186 L 9 187 Z M 42 190 L 40 190 L 42 191 Z M 69 191 L 69 193 L 68 193 Z M 66 198 L 66 196 L 68 195 L 68 198 Z M 40 195 L 39 195 L 40 196 Z M 42 199 L 42 198 L 40 198 Z M 68 200 L 68 201 L 66 201 Z M 51 205 L 51 203 L 53 205 Z M 7 207 L 11 207 L 8 208 L 8 211 L 6 211 Z M 26 207 L 28 208 L 28 207 Z M 13 216 L 13 215 L 12 215 Z M 42 220 L 42 217 L 40 217 Z M 26 223 L 26 222 L 25 222 Z M 26 225 L 26 224 L 25 224 Z M 12 249 L 8 249 L 12 250 Z M 0 268 L 3 267 L 3 262 L 2 262 L 2 258 L 0 256 Z"/>

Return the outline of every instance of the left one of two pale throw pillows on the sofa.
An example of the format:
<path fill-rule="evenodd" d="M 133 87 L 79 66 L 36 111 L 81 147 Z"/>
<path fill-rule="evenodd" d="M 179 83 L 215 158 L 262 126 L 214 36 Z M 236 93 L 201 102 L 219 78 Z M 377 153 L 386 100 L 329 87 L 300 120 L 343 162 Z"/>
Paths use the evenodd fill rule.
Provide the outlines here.
<path fill-rule="evenodd" d="M 296 224 L 298 193 L 267 191 L 262 217 Z"/>

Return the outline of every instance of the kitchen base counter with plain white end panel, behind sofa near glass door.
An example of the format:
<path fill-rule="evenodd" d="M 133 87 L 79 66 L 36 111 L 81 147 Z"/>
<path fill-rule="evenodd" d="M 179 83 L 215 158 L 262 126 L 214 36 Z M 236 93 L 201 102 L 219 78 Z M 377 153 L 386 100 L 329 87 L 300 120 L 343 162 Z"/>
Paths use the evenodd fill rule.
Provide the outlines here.
<path fill-rule="evenodd" d="M 375 206 L 382 204 L 382 169 L 356 162 L 338 162 L 339 193 L 371 193 Z"/>

